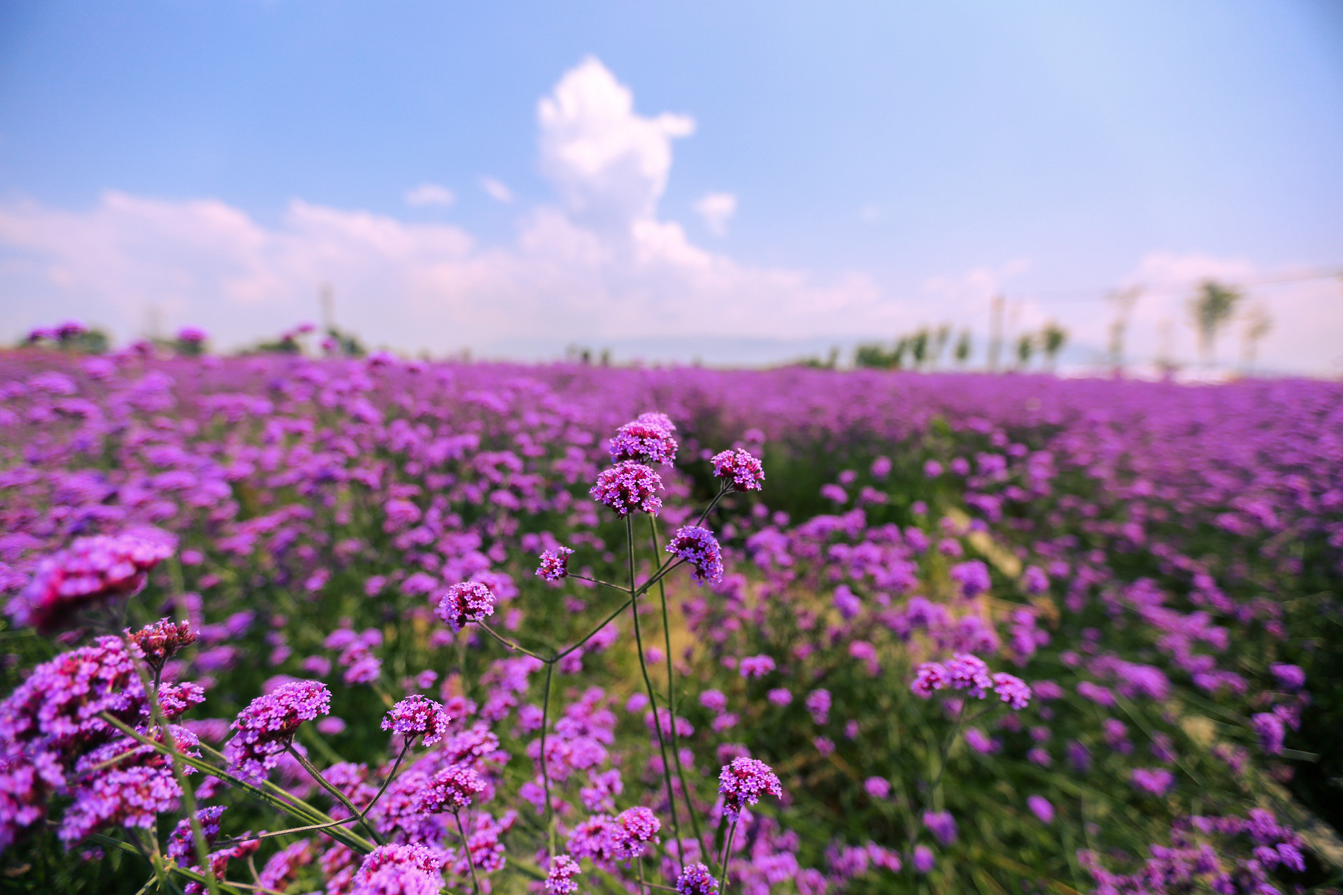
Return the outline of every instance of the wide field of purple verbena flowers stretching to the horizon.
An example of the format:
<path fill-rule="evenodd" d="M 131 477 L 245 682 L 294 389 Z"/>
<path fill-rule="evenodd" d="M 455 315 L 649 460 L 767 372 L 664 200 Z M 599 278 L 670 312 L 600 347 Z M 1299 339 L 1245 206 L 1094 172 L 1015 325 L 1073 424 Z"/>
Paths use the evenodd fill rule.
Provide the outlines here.
<path fill-rule="evenodd" d="M 1343 386 L 0 354 L 0 887 L 1343 879 Z"/>

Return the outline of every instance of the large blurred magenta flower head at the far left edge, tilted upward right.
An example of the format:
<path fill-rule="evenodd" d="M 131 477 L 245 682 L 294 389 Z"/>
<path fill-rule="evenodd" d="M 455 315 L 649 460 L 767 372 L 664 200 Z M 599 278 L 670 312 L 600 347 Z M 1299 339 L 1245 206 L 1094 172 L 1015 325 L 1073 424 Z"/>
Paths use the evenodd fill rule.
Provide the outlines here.
<path fill-rule="evenodd" d="M 177 539 L 158 529 L 77 538 L 38 564 L 28 586 L 5 612 L 15 624 L 55 631 L 82 607 L 138 593 L 149 570 L 176 549 Z"/>

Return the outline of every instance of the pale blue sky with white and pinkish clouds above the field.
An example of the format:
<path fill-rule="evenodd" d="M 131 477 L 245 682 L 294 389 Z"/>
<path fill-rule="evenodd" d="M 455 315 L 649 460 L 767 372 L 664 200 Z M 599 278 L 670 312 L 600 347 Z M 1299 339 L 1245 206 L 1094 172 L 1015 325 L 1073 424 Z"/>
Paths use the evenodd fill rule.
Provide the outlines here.
<path fill-rule="evenodd" d="M 11 0 L 0 338 L 238 345 L 329 282 L 404 350 L 763 361 L 982 341 L 1003 291 L 1084 364 L 1142 283 L 1132 353 L 1191 360 L 1198 278 L 1343 264 L 1340 158 L 1328 1 Z M 1338 280 L 1250 303 L 1262 364 L 1343 372 Z"/>

